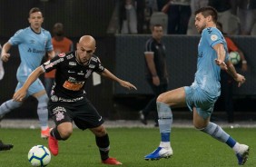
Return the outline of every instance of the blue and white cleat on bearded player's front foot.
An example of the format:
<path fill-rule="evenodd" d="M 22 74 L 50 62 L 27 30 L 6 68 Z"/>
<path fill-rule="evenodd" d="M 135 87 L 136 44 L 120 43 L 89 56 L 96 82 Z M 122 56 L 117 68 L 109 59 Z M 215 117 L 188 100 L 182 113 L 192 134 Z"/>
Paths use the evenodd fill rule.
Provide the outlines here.
<path fill-rule="evenodd" d="M 144 156 L 145 160 L 159 160 L 161 158 L 170 158 L 172 156 L 172 148 L 170 149 L 165 149 L 162 147 L 158 147 L 155 151 L 152 153 Z"/>

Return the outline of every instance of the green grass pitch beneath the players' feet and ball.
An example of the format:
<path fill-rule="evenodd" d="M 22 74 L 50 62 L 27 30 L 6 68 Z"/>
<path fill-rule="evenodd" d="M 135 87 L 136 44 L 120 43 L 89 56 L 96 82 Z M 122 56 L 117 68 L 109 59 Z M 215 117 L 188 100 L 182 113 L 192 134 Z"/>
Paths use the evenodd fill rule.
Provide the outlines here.
<path fill-rule="evenodd" d="M 225 129 L 239 142 L 250 145 L 250 157 L 244 166 L 256 166 L 255 128 Z M 125 167 L 234 167 L 238 166 L 233 151 L 224 143 L 192 128 L 172 129 L 172 150 L 170 159 L 145 161 L 143 156 L 159 144 L 157 128 L 110 128 L 110 155 L 123 162 Z M 15 145 L 14 149 L 0 152 L 0 167 L 27 167 L 27 152 L 37 144 L 47 146 L 39 138 L 39 129 L 0 129 L 0 139 Z M 72 137 L 59 142 L 59 155 L 47 167 L 97 167 L 103 165 L 90 131 L 74 129 Z"/>

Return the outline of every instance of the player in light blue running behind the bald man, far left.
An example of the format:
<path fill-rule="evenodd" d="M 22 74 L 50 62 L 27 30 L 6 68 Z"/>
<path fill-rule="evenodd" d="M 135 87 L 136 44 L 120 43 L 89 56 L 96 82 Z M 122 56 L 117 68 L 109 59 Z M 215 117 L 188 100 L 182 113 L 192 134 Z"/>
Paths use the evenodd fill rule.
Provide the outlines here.
<path fill-rule="evenodd" d="M 28 22 L 30 23 L 29 27 L 18 30 L 15 35 L 4 44 L 1 54 L 3 62 L 7 62 L 10 58 L 8 51 L 12 46 L 18 46 L 21 64 L 16 74 L 18 83 L 15 92 L 22 87 L 28 75 L 41 64 L 46 52 L 50 57 L 54 57 L 54 48 L 51 41 L 52 36 L 41 27 L 44 22 L 44 17 L 39 8 L 34 7 L 30 10 Z M 47 138 L 49 136 L 48 96 L 44 90 L 43 83 L 41 83 L 39 79 L 30 86 L 27 96 L 28 95 L 33 95 L 38 101 L 37 114 L 41 124 L 41 137 Z M 25 99 L 23 99 L 23 101 L 24 100 Z M 15 102 L 14 100 L 2 103 L 0 106 L 0 119 L 2 119 L 6 113 L 21 106 L 22 103 L 23 102 Z"/>

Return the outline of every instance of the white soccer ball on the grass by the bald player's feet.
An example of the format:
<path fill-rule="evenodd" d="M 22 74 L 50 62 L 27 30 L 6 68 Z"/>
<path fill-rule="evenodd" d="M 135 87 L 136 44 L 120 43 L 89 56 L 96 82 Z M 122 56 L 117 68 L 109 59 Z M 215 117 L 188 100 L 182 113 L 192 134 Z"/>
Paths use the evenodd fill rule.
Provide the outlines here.
<path fill-rule="evenodd" d="M 46 166 L 51 161 L 51 153 L 44 145 L 35 145 L 27 155 L 32 166 Z"/>

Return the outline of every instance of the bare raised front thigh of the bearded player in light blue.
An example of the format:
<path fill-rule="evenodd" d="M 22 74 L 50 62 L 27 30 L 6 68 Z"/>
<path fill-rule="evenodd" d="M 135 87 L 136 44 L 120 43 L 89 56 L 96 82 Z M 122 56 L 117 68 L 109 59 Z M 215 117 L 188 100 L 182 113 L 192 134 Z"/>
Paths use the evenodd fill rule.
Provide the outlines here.
<path fill-rule="evenodd" d="M 183 87 L 162 93 L 158 96 L 157 102 L 166 103 L 172 107 L 185 106 L 185 90 Z"/>

